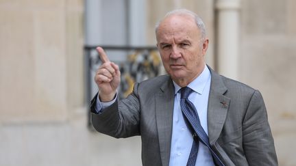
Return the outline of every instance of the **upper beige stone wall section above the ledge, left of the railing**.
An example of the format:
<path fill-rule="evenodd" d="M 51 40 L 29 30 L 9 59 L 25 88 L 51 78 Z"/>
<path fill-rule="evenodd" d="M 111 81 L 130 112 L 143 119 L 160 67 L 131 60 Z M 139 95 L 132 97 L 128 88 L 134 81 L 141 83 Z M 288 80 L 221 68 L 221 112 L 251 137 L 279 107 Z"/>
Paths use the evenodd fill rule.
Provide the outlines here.
<path fill-rule="evenodd" d="M 0 1 L 0 9 L 0 122 L 66 120 L 85 102 L 83 1 Z"/>

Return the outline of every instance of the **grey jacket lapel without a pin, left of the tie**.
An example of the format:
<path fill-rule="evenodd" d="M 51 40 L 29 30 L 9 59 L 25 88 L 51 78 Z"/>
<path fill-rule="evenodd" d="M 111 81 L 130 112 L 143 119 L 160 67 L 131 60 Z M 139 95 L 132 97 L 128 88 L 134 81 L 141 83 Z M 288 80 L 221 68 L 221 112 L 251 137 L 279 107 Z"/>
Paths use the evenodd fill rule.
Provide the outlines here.
<path fill-rule="evenodd" d="M 162 165 L 169 165 L 174 104 L 174 88 L 171 79 L 167 84 L 162 85 L 160 92 L 155 95 L 155 100 L 160 156 Z"/>

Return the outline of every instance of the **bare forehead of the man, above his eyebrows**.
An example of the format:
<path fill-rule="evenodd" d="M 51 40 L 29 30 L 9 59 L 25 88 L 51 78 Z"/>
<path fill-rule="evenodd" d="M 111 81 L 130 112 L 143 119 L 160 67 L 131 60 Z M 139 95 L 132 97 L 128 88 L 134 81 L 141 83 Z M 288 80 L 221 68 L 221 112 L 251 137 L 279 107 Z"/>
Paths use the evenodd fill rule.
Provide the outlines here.
<path fill-rule="evenodd" d="M 199 36 L 199 28 L 193 16 L 173 15 L 164 18 L 158 27 L 156 38 L 170 40 L 171 38 L 194 38 Z"/>

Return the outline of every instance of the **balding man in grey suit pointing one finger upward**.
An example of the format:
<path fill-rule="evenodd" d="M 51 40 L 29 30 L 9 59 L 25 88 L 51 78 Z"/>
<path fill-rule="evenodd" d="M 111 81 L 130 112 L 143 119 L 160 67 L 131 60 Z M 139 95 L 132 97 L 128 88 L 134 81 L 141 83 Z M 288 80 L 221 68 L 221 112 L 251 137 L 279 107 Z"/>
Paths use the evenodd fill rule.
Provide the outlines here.
<path fill-rule="evenodd" d="M 148 166 L 277 165 L 260 92 L 206 65 L 209 40 L 201 18 L 188 10 L 169 12 L 156 26 L 156 40 L 168 75 L 136 83 L 123 100 L 116 94 L 119 67 L 97 48 L 103 64 L 91 102 L 95 129 L 116 138 L 140 135 Z M 195 110 L 197 123 L 186 109 Z"/>

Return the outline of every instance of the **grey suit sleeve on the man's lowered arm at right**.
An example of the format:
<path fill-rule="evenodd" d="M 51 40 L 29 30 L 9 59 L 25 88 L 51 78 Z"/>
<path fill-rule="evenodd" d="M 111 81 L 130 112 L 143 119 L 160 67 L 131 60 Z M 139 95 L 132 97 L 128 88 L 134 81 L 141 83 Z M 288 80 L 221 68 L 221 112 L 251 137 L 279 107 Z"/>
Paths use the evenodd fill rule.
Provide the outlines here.
<path fill-rule="evenodd" d="M 277 165 L 267 110 L 258 91 L 251 97 L 243 120 L 243 149 L 249 165 Z"/>

